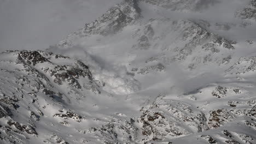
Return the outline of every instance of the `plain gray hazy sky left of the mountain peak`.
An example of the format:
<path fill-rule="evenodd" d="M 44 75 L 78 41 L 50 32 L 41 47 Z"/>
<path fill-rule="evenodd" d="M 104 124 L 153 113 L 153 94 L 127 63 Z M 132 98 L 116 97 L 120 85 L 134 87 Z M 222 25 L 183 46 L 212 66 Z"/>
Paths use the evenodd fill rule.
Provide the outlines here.
<path fill-rule="evenodd" d="M 0 51 L 45 49 L 119 0 L 0 0 Z"/>

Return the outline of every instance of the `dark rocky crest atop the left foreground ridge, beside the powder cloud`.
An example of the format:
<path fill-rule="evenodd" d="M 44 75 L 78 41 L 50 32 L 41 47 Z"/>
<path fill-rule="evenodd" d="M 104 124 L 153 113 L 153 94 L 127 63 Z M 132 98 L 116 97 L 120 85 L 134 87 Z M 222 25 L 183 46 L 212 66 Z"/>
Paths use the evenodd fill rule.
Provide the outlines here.
<path fill-rule="evenodd" d="M 57 83 L 58 85 L 63 85 L 67 82 L 68 85 L 74 88 L 81 89 L 84 87 L 91 89 L 91 91 L 94 93 L 100 93 L 100 91 L 97 89 L 97 85 L 94 84 L 92 74 L 87 65 L 80 61 L 74 61 L 69 65 L 57 65 L 50 61 L 50 59 L 58 58 L 70 60 L 68 57 L 54 55 L 51 52 L 21 51 L 19 52 L 18 62 L 24 64 L 27 71 L 33 71 L 36 76 L 41 76 L 46 81 L 53 79 L 53 82 Z M 23 63 L 23 61 L 25 61 L 25 63 Z M 45 65 L 49 65 L 49 67 L 45 67 L 45 65 L 43 67 L 37 66 L 36 64 L 38 63 L 45 63 Z M 30 64 L 32 64 L 33 67 L 31 67 Z M 40 69 L 38 69 L 38 67 L 40 67 Z M 43 73 L 46 74 L 43 75 Z M 51 78 L 49 78 L 48 75 L 50 75 Z M 80 77 L 89 79 L 90 82 L 80 83 L 78 81 Z"/>

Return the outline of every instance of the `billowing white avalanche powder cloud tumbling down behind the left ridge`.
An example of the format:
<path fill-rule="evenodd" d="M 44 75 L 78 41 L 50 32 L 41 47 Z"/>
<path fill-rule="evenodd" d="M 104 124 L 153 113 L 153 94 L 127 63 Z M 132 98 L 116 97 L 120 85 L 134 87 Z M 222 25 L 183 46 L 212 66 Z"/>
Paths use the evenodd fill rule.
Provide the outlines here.
<path fill-rule="evenodd" d="M 127 68 L 104 62 L 100 57 L 91 55 L 82 46 L 75 45 L 71 49 L 49 49 L 55 53 L 82 59 L 92 72 L 95 80 L 104 83 L 103 89 L 112 94 L 125 95 L 135 93 L 140 89 L 140 83 L 133 78 Z"/>

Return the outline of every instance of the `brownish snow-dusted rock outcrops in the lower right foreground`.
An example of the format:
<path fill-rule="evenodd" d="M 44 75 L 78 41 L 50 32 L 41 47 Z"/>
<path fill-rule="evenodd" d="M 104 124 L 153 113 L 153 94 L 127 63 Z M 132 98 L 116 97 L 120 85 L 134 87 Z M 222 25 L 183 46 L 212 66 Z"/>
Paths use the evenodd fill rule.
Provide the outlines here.
<path fill-rule="evenodd" d="M 214 94 L 219 95 L 220 98 L 222 98 L 220 95 L 223 94 L 225 97 L 229 97 L 226 95 L 226 92 L 237 95 L 241 94 L 233 91 L 234 89 L 235 88 L 231 88 L 229 90 L 222 86 L 218 86 L 213 92 Z M 242 90 L 240 89 L 240 91 Z M 196 96 L 193 97 L 196 98 Z M 215 106 L 215 110 L 206 113 L 204 112 L 204 109 L 198 109 L 199 107 L 193 109 L 191 105 L 182 103 L 181 101 L 170 100 L 166 98 L 166 95 L 160 94 L 148 109 L 142 107 L 142 115 L 138 118 L 138 121 L 142 125 L 142 135 L 147 136 L 145 142 L 162 141 L 166 140 L 165 137 L 183 137 L 190 134 L 196 134 L 200 131 L 219 129 L 220 127 L 225 127 L 225 124 L 231 123 L 239 117 L 249 116 L 252 118 L 255 116 L 255 106 L 251 105 L 249 108 L 247 107 L 248 103 L 253 103 L 252 100 L 240 101 L 237 103 L 235 103 L 235 101 L 233 101 L 233 103 L 229 101 L 230 108 L 217 109 L 218 106 Z M 247 108 L 242 107 L 242 105 Z M 243 123 L 243 121 L 239 123 Z M 251 127 L 255 126 L 254 122 L 247 122 L 246 124 Z M 237 143 L 237 139 L 234 139 L 233 132 L 231 133 L 228 130 L 224 130 L 222 137 L 223 139 L 225 137 L 226 143 Z M 217 137 L 210 135 L 201 136 L 201 139 L 207 140 L 209 143 L 219 143 Z"/>

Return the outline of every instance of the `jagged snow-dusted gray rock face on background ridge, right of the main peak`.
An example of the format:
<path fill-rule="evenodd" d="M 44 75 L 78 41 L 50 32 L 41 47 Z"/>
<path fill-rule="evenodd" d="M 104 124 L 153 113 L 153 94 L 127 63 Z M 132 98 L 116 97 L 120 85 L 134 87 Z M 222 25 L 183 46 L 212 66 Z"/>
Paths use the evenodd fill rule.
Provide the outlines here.
<path fill-rule="evenodd" d="M 160 20 L 152 20 L 150 23 L 156 23 L 155 21 L 159 22 Z M 173 31 L 170 31 L 170 28 L 166 28 L 168 32 L 178 32 L 179 36 L 173 43 L 177 43 L 177 47 L 175 49 L 170 49 L 173 52 L 174 56 L 161 56 L 161 60 L 165 64 L 170 64 L 174 61 L 184 62 L 188 61 L 189 69 L 193 70 L 196 68 L 196 65 L 199 63 L 208 63 L 213 62 L 217 63 L 218 65 L 228 64 L 231 59 L 230 55 L 223 55 L 222 58 L 215 58 L 214 53 L 222 53 L 224 51 L 234 50 L 234 46 L 231 45 L 229 40 L 224 39 L 223 37 L 219 37 L 216 34 L 208 32 L 205 28 L 200 26 L 199 24 L 188 21 L 188 20 L 178 20 L 178 21 L 170 21 L 170 20 L 162 20 L 162 23 L 168 23 L 173 28 Z M 156 25 L 156 24 L 155 24 Z M 157 25 L 161 25 L 158 23 Z M 161 35 L 161 39 L 165 39 L 167 32 L 162 32 L 164 34 Z M 156 34 L 155 34 L 156 35 Z M 161 40 L 160 39 L 160 40 Z M 182 41 L 182 42 L 181 42 Z M 156 44 L 158 45 L 158 44 Z M 162 45 L 161 43 L 159 45 Z M 164 47 L 164 46 L 162 46 Z M 165 47 L 170 47 L 166 45 Z M 174 47 L 174 46 L 172 46 Z M 198 50 L 201 47 L 205 51 Z M 169 49 L 163 49 L 164 51 L 168 51 Z M 194 52 L 203 52 L 199 56 L 194 57 Z M 175 54 L 174 54 L 175 53 Z M 189 60 L 190 59 L 190 60 Z M 218 59 L 218 60 L 217 60 Z"/>

